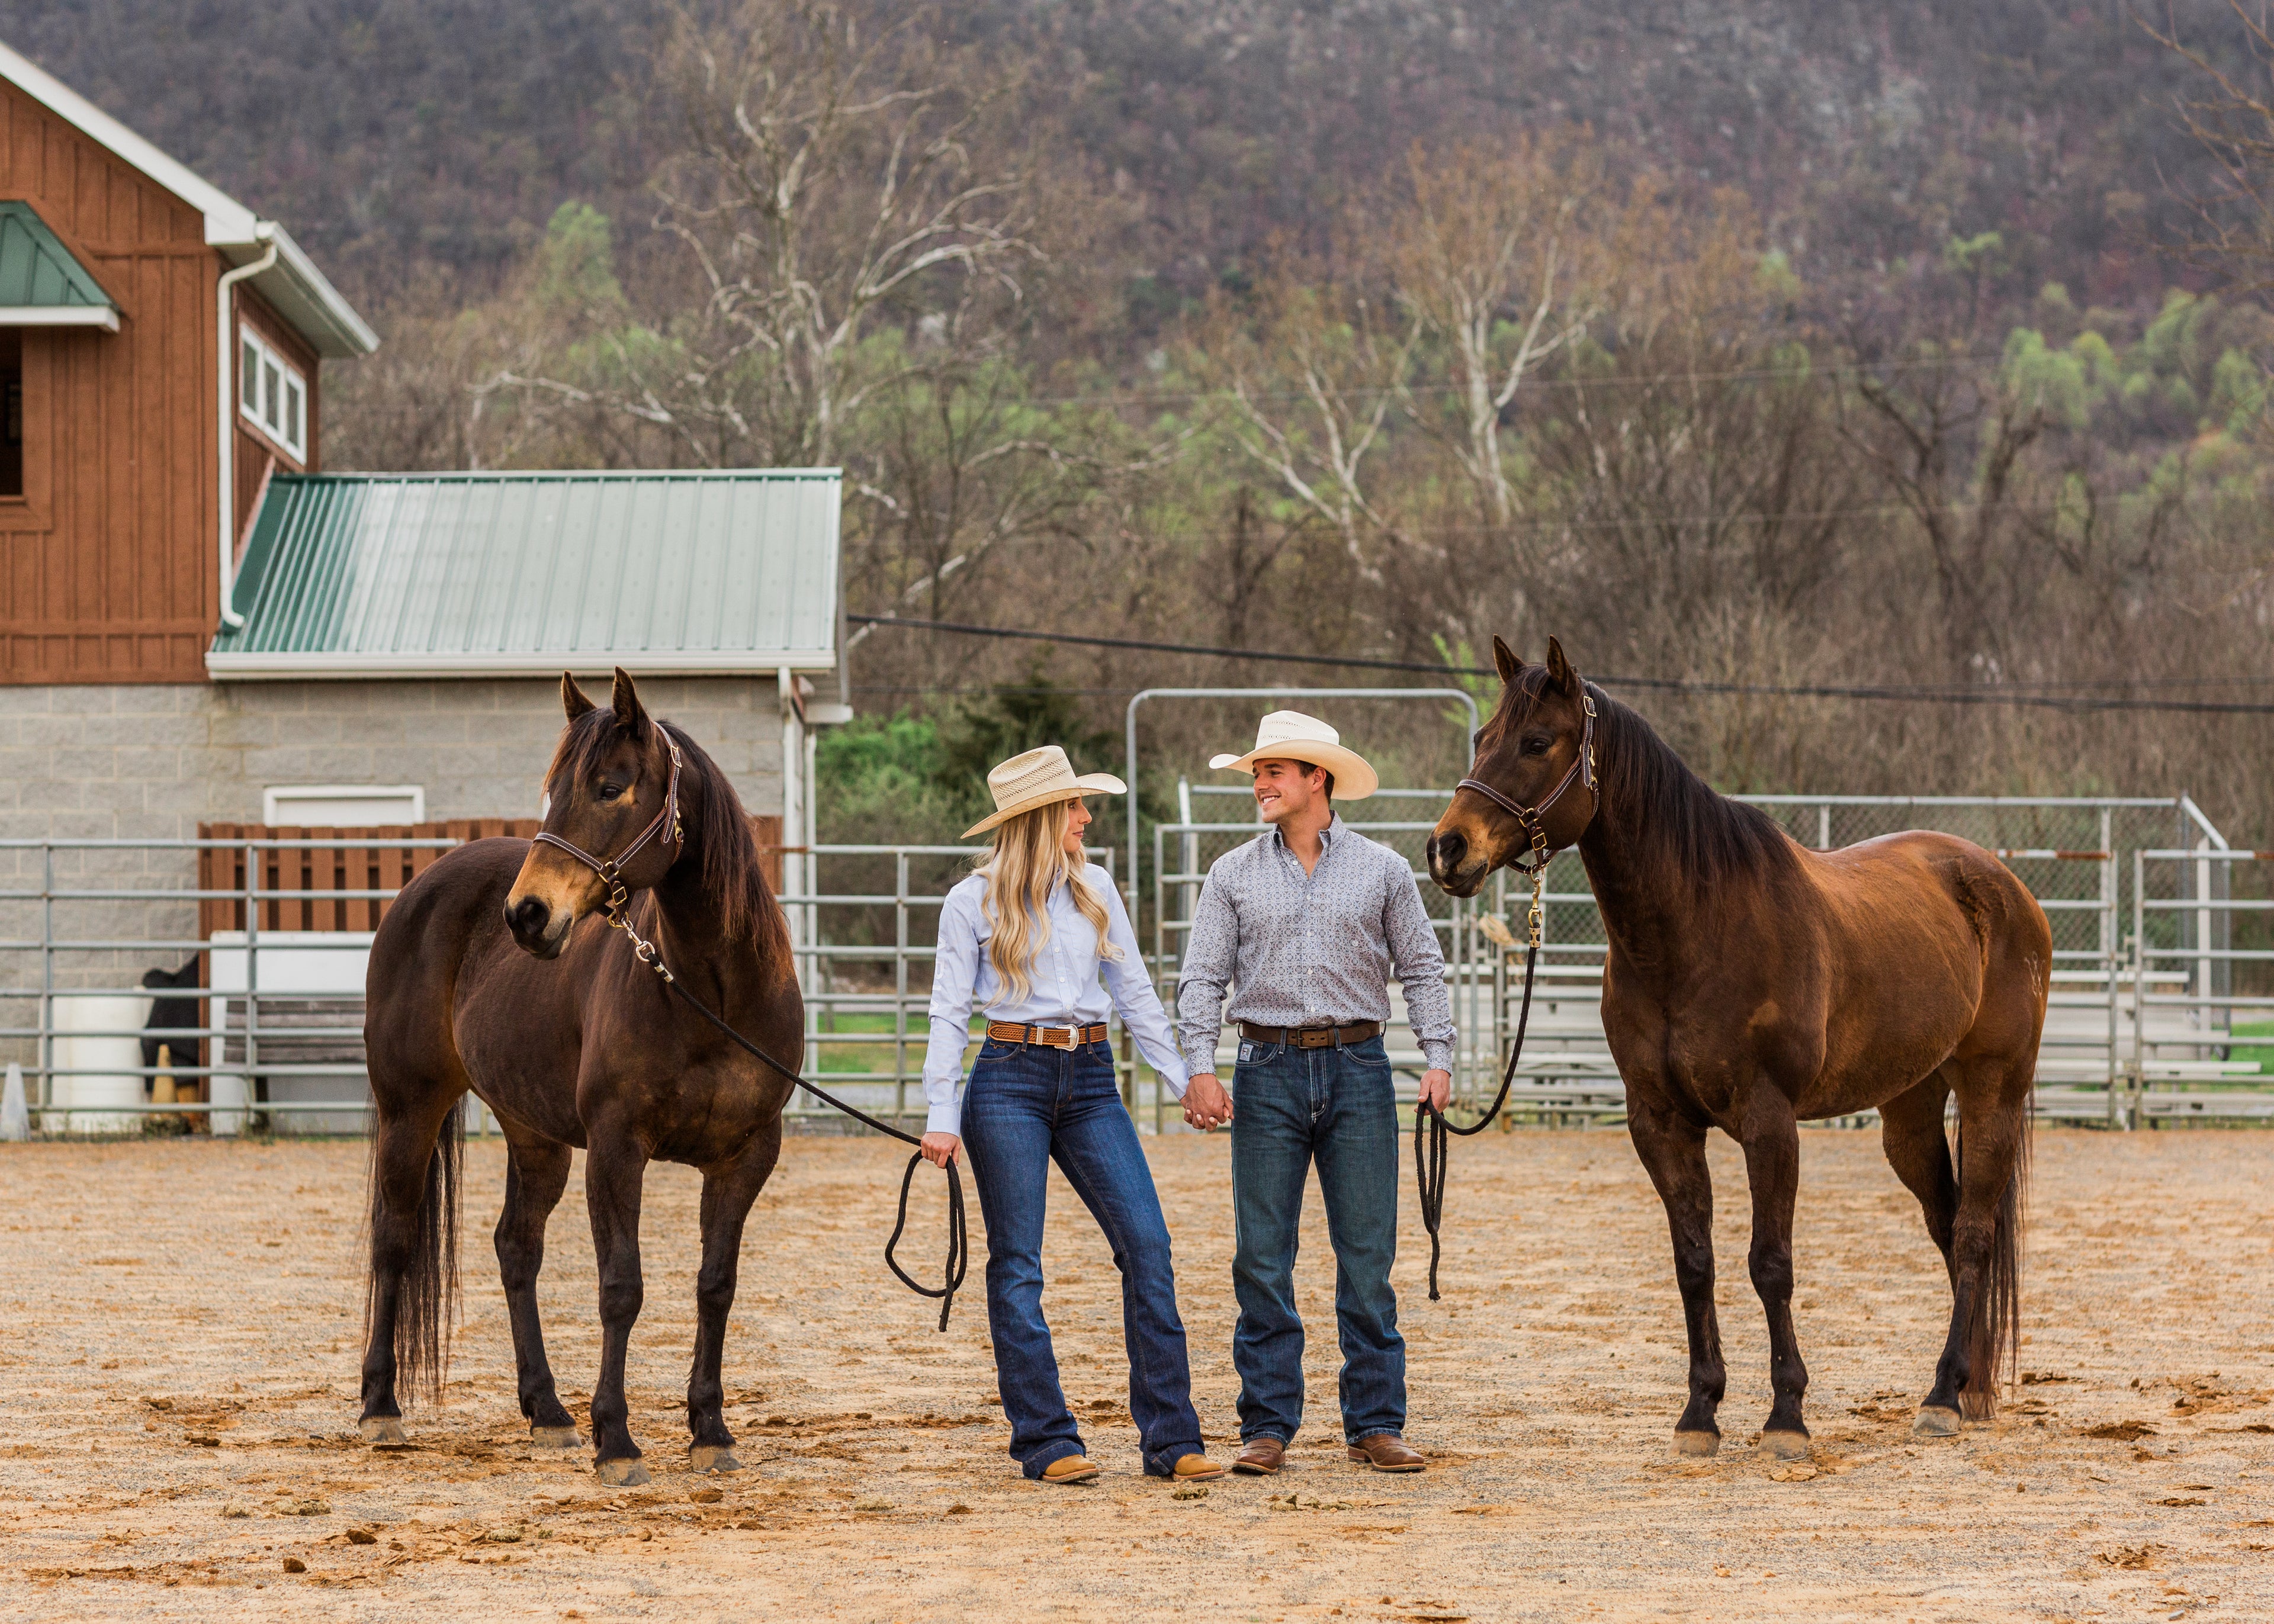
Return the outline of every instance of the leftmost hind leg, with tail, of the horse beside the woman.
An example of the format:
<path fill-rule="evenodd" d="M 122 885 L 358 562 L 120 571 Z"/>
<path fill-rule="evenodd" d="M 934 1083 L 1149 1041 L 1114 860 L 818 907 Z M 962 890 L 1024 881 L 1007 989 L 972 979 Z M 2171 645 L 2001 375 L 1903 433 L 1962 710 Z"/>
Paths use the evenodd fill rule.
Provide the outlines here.
<path fill-rule="evenodd" d="M 407 1099 L 405 1099 L 407 1094 Z M 382 1089 L 371 1135 L 371 1276 L 364 1296 L 364 1412 L 373 1444 L 402 1442 L 398 1374 L 437 1387 L 457 1287 L 455 1089 Z M 389 1101 L 396 1101 L 389 1108 Z M 407 1369 L 405 1369 L 407 1367 Z"/>

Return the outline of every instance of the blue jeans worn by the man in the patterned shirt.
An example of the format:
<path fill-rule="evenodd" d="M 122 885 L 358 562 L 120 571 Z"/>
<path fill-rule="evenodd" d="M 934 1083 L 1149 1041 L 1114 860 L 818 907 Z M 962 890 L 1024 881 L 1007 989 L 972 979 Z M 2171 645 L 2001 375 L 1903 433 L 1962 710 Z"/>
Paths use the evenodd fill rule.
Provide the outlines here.
<path fill-rule="evenodd" d="M 1405 1431 L 1399 1256 L 1399 1105 L 1380 1037 L 1348 1049 L 1239 1044 L 1233 1074 L 1233 1367 L 1239 1437 L 1294 1442 L 1303 1424 L 1303 1319 L 1294 1310 L 1303 1183 L 1319 1165 L 1335 1246 L 1342 1435 Z"/>

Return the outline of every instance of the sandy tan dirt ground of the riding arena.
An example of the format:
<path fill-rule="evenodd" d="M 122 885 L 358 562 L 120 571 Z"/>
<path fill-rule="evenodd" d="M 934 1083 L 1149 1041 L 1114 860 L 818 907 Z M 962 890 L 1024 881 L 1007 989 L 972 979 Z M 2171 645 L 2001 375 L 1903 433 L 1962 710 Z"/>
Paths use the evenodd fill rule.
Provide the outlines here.
<path fill-rule="evenodd" d="M 634 1431 L 655 1483 L 530 1451 L 468 1144 L 455 1381 L 414 1449 L 355 1437 L 362 1144 L 0 1151 L 0 1615 L 380 1619 L 2263 1619 L 2274 1615 L 2274 1135 L 2042 1133 L 2024 1385 L 1915 1442 L 1947 1294 L 1878 1137 L 1808 1133 L 1796 1317 L 1808 1467 L 1767 1408 L 1744 1167 L 1717 1144 L 1726 1444 L 1676 1460 L 1683 1337 L 1655 1199 L 1619 1133 L 1453 1149 L 1442 1303 L 1405 1201 L 1410 1437 L 1424 1476 L 1342 1460 L 1333 1271 L 1303 1260 L 1312 1424 L 1278 1478 L 1171 1499 L 1137 1469 L 1112 1260 L 1064 1185 L 1051 1294 L 1107 1474 L 1003 1456 L 985 1301 L 948 1335 L 885 1274 L 901 1155 L 794 1140 L 753 1217 L 728 1342 L 750 1463 L 684 1469 L 696 1178 L 648 1180 Z M 1233 1428 L 1228 1162 L 1153 1146 L 1198 1406 Z M 926 1183 L 926 1190 L 937 1185 Z M 578 1185 L 548 1335 L 571 1408 L 596 1358 Z M 928 1210 L 937 1215 L 937 1208 Z M 916 1253 L 935 1253 L 935 1221 Z M 582 1419 L 582 1415 L 580 1415 Z"/>

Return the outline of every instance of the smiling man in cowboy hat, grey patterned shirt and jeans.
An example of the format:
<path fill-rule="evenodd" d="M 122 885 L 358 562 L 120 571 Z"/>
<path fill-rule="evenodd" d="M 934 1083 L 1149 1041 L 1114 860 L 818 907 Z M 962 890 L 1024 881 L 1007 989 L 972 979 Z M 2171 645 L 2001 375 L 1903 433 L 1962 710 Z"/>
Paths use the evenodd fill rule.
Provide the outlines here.
<path fill-rule="evenodd" d="M 1444 955 L 1405 857 L 1351 832 L 1335 801 L 1364 801 L 1373 769 L 1323 721 L 1264 716 L 1255 748 L 1217 769 L 1255 773 L 1271 828 L 1207 871 L 1178 978 L 1178 1046 L 1192 1069 L 1185 1121 L 1233 1124 L 1233 1292 L 1239 1326 L 1239 1458 L 1264 1476 L 1303 1422 L 1303 1321 L 1294 1310 L 1303 1183 L 1319 1165 L 1335 1244 L 1342 1435 L 1351 1460 L 1419 1472 L 1405 1444 L 1405 1337 L 1389 1265 L 1399 1249 L 1399 1108 L 1383 1024 L 1389 976 L 1428 1071 L 1421 1099 L 1451 1089 L 1453 1001 Z M 1217 1080 L 1223 987 L 1239 1026 L 1233 1099 Z"/>

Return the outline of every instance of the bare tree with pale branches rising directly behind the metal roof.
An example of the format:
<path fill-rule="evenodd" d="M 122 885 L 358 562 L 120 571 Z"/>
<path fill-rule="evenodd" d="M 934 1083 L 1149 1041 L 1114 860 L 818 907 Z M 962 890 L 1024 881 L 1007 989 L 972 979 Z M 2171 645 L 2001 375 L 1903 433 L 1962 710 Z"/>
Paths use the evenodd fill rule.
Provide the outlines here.
<path fill-rule="evenodd" d="M 837 462 L 848 419 L 901 375 L 869 341 L 969 332 L 973 287 L 1014 305 L 1039 257 L 1003 127 L 1016 82 L 939 55 L 921 20 L 869 34 L 837 0 L 680 5 L 657 59 L 680 148 L 650 187 L 687 291 L 500 382 L 598 403 L 698 466 Z"/>

